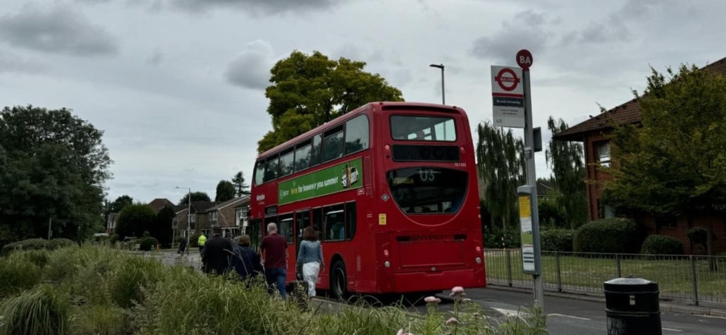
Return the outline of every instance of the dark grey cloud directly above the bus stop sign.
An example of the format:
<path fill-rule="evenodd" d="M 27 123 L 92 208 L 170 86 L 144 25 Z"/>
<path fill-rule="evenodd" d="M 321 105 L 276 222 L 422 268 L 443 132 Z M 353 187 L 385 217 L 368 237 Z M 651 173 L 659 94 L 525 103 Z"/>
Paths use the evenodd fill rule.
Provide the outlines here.
<path fill-rule="evenodd" d="M 558 20 L 549 20 L 546 15 L 532 10 L 519 12 L 513 20 L 505 20 L 497 33 L 476 39 L 470 53 L 482 59 L 511 63 L 520 49 L 543 52 L 552 39 L 547 28 L 557 23 Z"/>

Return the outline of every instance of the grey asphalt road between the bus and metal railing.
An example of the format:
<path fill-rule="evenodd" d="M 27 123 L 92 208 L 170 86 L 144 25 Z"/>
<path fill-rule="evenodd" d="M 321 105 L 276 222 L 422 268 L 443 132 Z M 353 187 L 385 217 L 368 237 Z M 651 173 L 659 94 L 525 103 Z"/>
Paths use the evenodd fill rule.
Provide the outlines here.
<path fill-rule="evenodd" d="M 519 307 L 531 307 L 533 299 L 531 294 L 494 288 L 470 289 L 466 294 L 484 309 L 502 315 L 516 315 Z M 547 312 L 547 330 L 552 335 L 608 334 L 603 303 L 545 296 L 544 309 Z M 664 335 L 726 334 L 726 318 L 664 312 L 661 323 Z"/>

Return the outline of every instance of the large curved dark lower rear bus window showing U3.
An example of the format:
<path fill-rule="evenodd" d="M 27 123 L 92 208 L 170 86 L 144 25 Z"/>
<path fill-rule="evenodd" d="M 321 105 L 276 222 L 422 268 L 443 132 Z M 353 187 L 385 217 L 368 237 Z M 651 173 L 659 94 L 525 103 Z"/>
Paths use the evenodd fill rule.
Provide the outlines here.
<path fill-rule="evenodd" d="M 388 171 L 393 200 L 406 214 L 453 214 L 459 211 L 468 184 L 465 171 L 406 168 Z"/>

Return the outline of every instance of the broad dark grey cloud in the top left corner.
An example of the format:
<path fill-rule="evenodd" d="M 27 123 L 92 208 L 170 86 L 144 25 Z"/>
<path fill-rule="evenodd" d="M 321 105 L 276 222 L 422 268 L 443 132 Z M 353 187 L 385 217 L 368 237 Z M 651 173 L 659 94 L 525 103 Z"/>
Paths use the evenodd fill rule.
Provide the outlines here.
<path fill-rule="evenodd" d="M 112 55 L 115 38 L 68 5 L 25 5 L 0 17 L 0 39 L 14 47 L 74 56 Z"/>

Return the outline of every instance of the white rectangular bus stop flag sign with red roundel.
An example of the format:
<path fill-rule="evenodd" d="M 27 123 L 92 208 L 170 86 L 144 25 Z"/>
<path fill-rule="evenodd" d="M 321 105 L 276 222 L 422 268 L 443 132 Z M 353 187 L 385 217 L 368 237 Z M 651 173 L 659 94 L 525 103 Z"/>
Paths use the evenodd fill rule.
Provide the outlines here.
<path fill-rule="evenodd" d="M 492 65 L 494 126 L 524 128 L 522 69 Z"/>

